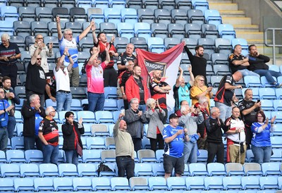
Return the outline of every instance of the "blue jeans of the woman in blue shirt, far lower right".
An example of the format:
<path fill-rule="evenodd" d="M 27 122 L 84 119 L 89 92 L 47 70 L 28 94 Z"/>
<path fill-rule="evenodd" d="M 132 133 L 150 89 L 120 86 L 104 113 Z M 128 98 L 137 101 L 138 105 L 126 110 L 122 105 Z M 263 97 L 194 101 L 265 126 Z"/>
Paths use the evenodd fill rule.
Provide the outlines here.
<path fill-rule="evenodd" d="M 262 164 L 270 161 L 271 146 L 255 147 L 252 145 L 252 154 L 254 154 L 255 162 Z"/>

